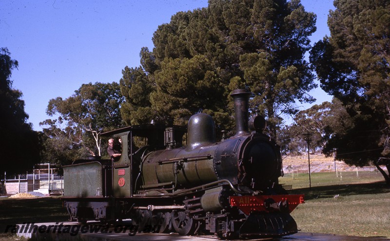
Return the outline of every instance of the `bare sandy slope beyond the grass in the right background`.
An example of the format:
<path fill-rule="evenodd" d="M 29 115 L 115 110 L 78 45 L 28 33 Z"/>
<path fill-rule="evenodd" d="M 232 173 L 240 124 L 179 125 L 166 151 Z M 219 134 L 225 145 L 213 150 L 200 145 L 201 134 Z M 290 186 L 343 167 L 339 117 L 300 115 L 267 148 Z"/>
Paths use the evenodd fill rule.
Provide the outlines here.
<path fill-rule="evenodd" d="M 284 173 L 305 173 L 309 171 L 308 155 L 283 156 L 282 159 Z M 327 158 L 322 154 L 310 154 L 311 172 L 334 172 L 335 168 L 343 172 L 356 171 L 356 166 L 349 166 L 343 161 L 334 161 L 333 157 Z M 382 168 L 386 170 L 385 166 L 382 166 Z M 357 167 L 357 170 L 375 171 L 376 167 L 374 165 Z"/>

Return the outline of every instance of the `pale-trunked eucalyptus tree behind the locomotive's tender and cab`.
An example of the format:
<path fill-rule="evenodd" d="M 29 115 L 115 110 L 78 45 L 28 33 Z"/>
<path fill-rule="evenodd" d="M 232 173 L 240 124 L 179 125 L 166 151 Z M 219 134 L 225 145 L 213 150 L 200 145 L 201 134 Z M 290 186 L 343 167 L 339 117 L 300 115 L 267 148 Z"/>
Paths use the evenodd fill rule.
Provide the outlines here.
<path fill-rule="evenodd" d="M 43 132 L 64 149 L 100 156 L 100 134 L 124 125 L 120 116 L 123 101 L 116 82 L 83 84 L 65 100 L 57 97 L 49 101 L 46 113 L 57 118 L 41 122 L 46 126 Z"/>

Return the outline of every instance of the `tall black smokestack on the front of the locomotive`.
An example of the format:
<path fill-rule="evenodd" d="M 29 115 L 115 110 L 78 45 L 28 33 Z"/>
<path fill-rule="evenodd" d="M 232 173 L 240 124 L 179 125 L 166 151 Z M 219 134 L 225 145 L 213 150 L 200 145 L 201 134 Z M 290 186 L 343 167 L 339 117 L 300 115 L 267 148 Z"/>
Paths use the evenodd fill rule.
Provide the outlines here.
<path fill-rule="evenodd" d="M 234 112 L 235 112 L 235 135 L 240 136 L 249 133 L 248 129 L 248 108 L 249 108 L 249 96 L 251 92 L 247 92 L 245 89 L 234 90 L 231 96 L 234 99 Z"/>

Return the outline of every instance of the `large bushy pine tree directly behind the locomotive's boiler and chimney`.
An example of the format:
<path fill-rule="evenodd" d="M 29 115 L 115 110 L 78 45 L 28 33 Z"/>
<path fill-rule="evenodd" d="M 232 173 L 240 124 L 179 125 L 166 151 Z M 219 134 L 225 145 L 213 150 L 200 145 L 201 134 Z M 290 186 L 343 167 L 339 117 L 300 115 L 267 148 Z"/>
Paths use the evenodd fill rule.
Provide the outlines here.
<path fill-rule="evenodd" d="M 275 137 L 279 116 L 297 111 L 295 100 L 313 101 L 304 54 L 314 24 L 299 0 L 211 0 L 206 8 L 176 13 L 154 33 L 153 51 L 141 50 L 145 81 L 155 84 L 149 113 L 185 123 L 205 112 L 219 130 L 232 130 L 229 94 L 247 88 L 255 96 L 252 112 L 266 116 Z"/>

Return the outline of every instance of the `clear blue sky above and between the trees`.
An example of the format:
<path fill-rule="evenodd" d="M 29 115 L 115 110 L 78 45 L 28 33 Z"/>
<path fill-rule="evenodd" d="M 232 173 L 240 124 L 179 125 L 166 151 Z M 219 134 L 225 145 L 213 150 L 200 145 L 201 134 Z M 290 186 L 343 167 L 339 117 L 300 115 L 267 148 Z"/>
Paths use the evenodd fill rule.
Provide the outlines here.
<path fill-rule="evenodd" d="M 317 15 L 312 43 L 329 35 L 333 1 L 301 2 Z M 19 61 L 11 80 L 23 93 L 34 130 L 50 118 L 45 113 L 50 99 L 65 99 L 83 83 L 118 82 L 125 66 L 140 65 L 141 47 L 153 49 L 158 25 L 176 12 L 207 5 L 207 0 L 1 0 L 0 47 Z M 316 103 L 331 100 L 319 88 L 311 94 Z"/>

